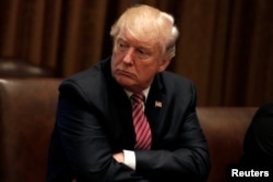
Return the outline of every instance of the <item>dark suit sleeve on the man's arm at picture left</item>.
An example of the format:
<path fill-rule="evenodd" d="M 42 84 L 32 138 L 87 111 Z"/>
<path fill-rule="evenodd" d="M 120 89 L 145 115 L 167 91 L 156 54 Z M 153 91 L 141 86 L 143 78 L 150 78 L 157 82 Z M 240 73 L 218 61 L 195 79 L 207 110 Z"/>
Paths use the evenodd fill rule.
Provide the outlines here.
<path fill-rule="evenodd" d="M 103 116 L 82 89 L 72 82 L 60 86 L 57 129 L 71 171 L 78 182 L 147 182 L 111 154 Z"/>

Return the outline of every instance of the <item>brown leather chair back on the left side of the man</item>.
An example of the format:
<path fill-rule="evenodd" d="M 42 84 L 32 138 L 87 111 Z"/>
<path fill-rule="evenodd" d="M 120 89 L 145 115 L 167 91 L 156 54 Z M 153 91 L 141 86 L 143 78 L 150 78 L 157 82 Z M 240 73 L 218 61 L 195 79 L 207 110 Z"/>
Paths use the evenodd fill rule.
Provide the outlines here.
<path fill-rule="evenodd" d="M 0 80 L 0 181 L 43 182 L 58 78 Z"/>

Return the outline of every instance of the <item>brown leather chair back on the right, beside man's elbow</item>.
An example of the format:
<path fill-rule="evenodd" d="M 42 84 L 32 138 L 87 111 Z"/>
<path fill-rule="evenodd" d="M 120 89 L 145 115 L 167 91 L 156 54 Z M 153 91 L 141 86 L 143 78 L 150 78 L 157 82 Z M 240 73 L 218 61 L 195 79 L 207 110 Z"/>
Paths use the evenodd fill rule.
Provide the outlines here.
<path fill-rule="evenodd" d="M 199 107 L 198 116 L 206 135 L 212 169 L 207 182 L 226 182 L 227 166 L 239 165 L 244 138 L 256 107 Z"/>

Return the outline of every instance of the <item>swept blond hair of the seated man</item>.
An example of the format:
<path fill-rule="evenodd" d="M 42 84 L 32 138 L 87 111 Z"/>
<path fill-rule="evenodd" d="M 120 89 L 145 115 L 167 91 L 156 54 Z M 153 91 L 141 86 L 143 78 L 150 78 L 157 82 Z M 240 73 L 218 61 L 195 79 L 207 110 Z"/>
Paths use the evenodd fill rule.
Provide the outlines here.
<path fill-rule="evenodd" d="M 171 59 L 179 36 L 174 17 L 149 5 L 129 8 L 112 25 L 110 35 L 116 38 L 121 32 L 141 40 L 159 44 L 165 57 Z"/>

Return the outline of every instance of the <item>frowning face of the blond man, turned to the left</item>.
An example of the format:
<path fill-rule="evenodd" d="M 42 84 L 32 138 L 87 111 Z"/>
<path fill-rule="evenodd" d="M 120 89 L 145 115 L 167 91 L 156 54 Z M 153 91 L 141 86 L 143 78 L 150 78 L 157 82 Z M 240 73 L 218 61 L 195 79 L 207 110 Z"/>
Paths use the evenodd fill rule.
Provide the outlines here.
<path fill-rule="evenodd" d="M 157 44 L 136 40 L 126 34 L 115 38 L 111 74 L 129 92 L 139 93 L 147 88 L 154 75 L 164 71 L 168 63 Z"/>

